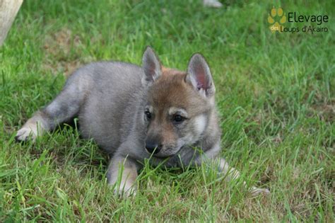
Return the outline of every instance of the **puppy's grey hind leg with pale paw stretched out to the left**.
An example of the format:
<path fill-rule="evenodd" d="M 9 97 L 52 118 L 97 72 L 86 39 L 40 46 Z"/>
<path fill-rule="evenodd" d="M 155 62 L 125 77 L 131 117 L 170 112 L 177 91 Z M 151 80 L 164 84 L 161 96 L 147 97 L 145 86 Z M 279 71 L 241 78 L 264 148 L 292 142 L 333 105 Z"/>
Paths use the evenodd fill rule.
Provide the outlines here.
<path fill-rule="evenodd" d="M 82 80 L 71 76 L 63 91 L 42 110 L 37 111 L 16 134 L 17 141 L 33 141 L 45 131 L 54 130 L 57 125 L 74 118 L 83 104 L 85 87 Z"/>

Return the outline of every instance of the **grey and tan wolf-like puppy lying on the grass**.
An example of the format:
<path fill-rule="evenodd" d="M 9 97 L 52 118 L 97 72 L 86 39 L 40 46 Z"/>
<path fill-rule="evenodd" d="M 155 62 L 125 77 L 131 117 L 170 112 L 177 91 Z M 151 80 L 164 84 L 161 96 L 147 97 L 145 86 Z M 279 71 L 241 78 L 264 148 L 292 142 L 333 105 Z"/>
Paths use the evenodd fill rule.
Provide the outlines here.
<path fill-rule="evenodd" d="M 221 130 L 215 87 L 204 57 L 193 55 L 187 72 L 167 69 L 150 47 L 143 67 L 124 62 L 95 62 L 78 69 L 63 91 L 18 130 L 16 139 L 35 139 L 62 122 L 79 118 L 81 135 L 110 154 L 107 179 L 115 192 L 136 190 L 144 159 L 165 166 L 199 165 L 216 160 L 228 178 L 239 173 L 220 152 Z M 200 148 L 200 149 L 194 149 Z M 268 193 L 252 188 L 252 193 Z"/>

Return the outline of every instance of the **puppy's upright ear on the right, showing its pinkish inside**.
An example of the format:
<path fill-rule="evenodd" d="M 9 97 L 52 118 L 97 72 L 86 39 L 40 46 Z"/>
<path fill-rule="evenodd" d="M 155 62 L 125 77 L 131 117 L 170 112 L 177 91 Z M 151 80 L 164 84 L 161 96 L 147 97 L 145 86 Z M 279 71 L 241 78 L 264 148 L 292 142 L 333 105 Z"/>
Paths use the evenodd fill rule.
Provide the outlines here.
<path fill-rule="evenodd" d="M 189 59 L 185 81 L 206 97 L 213 96 L 215 93 L 211 70 L 205 58 L 199 53 Z"/>

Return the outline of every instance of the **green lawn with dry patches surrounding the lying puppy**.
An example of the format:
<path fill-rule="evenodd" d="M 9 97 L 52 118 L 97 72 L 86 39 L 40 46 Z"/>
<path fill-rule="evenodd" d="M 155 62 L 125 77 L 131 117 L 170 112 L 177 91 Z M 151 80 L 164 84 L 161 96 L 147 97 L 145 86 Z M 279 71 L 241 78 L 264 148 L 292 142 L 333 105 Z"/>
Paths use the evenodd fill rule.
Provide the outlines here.
<path fill-rule="evenodd" d="M 277 3 L 326 14 L 327 33 L 272 34 L 271 4 L 223 1 L 24 1 L 0 48 L 0 222 L 333 222 L 335 147 L 334 5 Z M 306 23 L 308 24 L 308 23 Z M 312 24 L 312 23 L 310 23 Z M 134 198 L 116 198 L 107 156 L 66 126 L 36 144 L 16 130 L 88 62 L 141 63 L 146 45 L 167 67 L 194 52 L 211 65 L 222 153 L 242 178 L 204 167 L 146 165 Z M 242 181 L 269 188 L 253 198 Z"/>

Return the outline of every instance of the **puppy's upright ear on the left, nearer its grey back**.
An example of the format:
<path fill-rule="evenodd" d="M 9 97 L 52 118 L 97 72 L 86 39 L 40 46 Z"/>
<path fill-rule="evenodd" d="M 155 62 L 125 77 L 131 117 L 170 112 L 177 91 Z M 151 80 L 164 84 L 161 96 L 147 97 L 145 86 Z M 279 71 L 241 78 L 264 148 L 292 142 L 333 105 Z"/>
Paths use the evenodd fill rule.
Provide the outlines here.
<path fill-rule="evenodd" d="M 146 47 L 146 51 L 143 53 L 142 67 L 144 71 L 142 84 L 144 85 L 152 84 L 162 74 L 160 61 L 151 47 Z"/>

